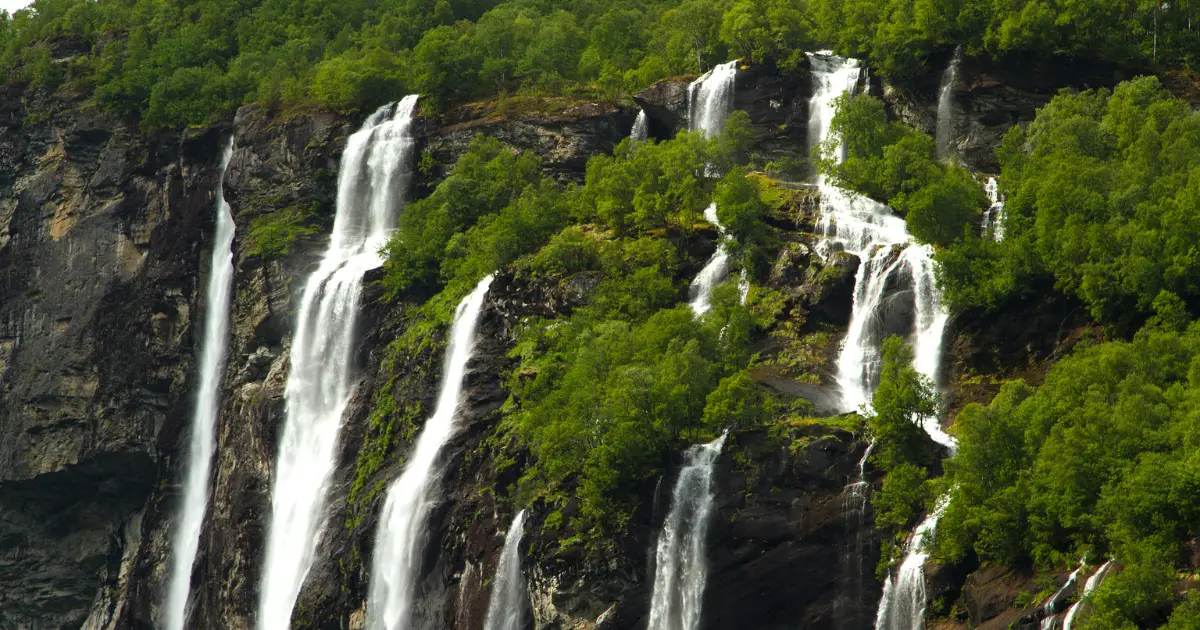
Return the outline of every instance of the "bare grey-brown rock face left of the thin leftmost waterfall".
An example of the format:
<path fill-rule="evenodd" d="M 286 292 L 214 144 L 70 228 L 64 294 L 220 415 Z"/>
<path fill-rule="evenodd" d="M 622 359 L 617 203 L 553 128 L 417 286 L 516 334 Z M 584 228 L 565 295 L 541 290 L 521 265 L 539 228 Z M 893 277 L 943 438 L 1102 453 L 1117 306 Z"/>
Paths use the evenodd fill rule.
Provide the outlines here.
<path fill-rule="evenodd" d="M 106 628 L 187 416 L 220 131 L 0 95 L 0 625 Z M 108 595 L 104 595 L 104 594 Z M 95 600 L 95 602 L 94 602 Z"/>

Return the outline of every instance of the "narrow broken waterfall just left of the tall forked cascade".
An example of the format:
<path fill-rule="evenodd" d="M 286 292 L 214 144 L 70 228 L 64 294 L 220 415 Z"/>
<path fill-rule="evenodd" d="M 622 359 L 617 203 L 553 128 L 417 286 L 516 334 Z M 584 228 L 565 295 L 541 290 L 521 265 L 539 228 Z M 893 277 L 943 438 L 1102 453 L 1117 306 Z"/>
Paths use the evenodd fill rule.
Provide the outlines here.
<path fill-rule="evenodd" d="M 725 128 L 725 119 L 730 116 L 733 108 L 733 88 L 737 78 L 738 61 L 734 59 L 727 64 L 715 66 L 701 78 L 688 85 L 688 128 L 689 131 L 702 132 L 712 138 L 721 133 Z M 636 127 L 635 127 L 636 128 Z M 725 227 L 716 216 L 716 203 L 709 204 L 704 209 L 704 218 L 716 226 L 721 238 L 725 236 Z M 713 287 L 720 284 L 730 274 L 730 252 L 725 245 L 719 245 L 713 257 L 708 259 L 689 288 L 690 306 L 692 312 L 702 316 L 708 312 L 710 305 L 709 296 Z M 749 290 L 749 284 L 746 284 Z"/>

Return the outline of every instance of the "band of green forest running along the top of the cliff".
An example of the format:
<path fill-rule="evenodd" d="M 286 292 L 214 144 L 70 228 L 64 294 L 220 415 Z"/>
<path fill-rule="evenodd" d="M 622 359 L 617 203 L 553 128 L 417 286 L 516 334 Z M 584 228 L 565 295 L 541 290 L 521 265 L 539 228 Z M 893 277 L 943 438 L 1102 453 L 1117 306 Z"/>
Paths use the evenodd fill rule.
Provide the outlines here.
<path fill-rule="evenodd" d="M 617 97 L 731 58 L 788 68 L 830 47 L 888 76 L 959 43 L 991 56 L 1194 64 L 1194 11 L 1144 0 L 35 0 L 0 19 L 0 72 L 71 82 L 154 128 L 245 102 Z"/>

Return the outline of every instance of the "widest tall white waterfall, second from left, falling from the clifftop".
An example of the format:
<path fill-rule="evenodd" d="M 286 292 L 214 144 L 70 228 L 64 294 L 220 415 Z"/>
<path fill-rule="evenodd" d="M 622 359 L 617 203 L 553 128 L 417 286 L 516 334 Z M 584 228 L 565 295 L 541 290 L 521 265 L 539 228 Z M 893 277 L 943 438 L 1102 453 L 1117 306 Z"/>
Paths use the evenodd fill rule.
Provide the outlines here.
<path fill-rule="evenodd" d="M 416 96 L 385 106 L 349 137 L 329 250 L 310 276 L 292 341 L 287 421 L 271 496 L 260 630 L 286 630 L 323 527 L 342 413 L 353 389 L 362 275 L 383 264 L 410 176 Z"/>

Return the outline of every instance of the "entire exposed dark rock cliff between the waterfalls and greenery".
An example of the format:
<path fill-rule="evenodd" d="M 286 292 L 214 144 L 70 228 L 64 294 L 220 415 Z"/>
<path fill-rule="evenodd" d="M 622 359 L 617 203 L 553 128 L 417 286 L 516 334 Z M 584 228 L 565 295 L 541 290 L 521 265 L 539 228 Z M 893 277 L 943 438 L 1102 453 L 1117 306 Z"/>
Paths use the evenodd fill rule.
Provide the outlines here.
<path fill-rule="evenodd" d="M 760 161 L 806 157 L 810 91 L 803 72 L 739 72 L 734 107 L 750 114 Z M 655 136 L 685 126 L 685 95 L 686 82 L 666 82 L 638 96 Z M 560 181 L 581 181 L 587 158 L 611 151 L 635 115 L 565 100 L 526 106 L 422 119 L 420 150 L 433 167 L 419 174 L 413 196 L 431 190 L 480 132 L 535 151 Z M 0 625 L 157 626 L 191 422 L 212 196 L 232 133 L 233 334 L 190 628 L 253 626 L 294 311 L 325 248 L 341 151 L 358 122 L 246 107 L 212 128 L 148 137 L 61 94 L 0 94 Z M 252 235 L 256 221 L 298 209 L 317 235 L 290 252 L 264 253 Z M 770 217 L 784 236 L 770 284 L 808 314 L 805 330 L 836 334 L 848 318 L 857 259 L 839 257 L 827 269 L 811 256 L 804 233 L 812 211 L 799 203 L 794 215 Z M 682 276 L 694 275 L 713 245 L 696 239 L 691 247 Z M 395 479 L 415 437 L 398 440 L 380 467 L 358 479 L 360 451 L 378 439 L 371 410 L 383 392 L 427 415 L 440 376 L 440 350 L 430 349 L 397 367 L 410 378 L 392 378 L 386 344 L 410 323 L 414 305 L 385 300 L 373 276 L 367 280 L 361 379 L 343 418 L 328 523 L 295 628 L 362 628 L 383 493 L 350 497 Z M 446 491 L 432 520 L 440 547 L 424 571 L 440 625 L 481 626 L 512 517 L 506 492 L 528 457 L 487 442 L 505 397 L 512 328 L 532 314 L 570 310 L 593 281 L 502 275 L 488 295 L 467 377 L 464 428 L 445 454 Z M 983 326 L 965 322 L 960 330 L 989 343 Z M 774 342 L 763 348 L 778 349 Z M 817 408 L 829 394 L 779 371 L 755 378 Z M 844 494 L 864 448 L 850 432 L 822 426 L 731 438 L 716 474 L 706 629 L 870 626 L 878 540 L 869 510 Z M 500 458 L 517 466 L 498 469 Z M 564 544 L 565 534 L 542 529 L 545 510 L 533 510 L 527 571 L 539 628 L 644 625 L 649 558 L 678 464 L 664 462 L 668 473 L 642 488 L 628 532 L 600 546 Z"/>

